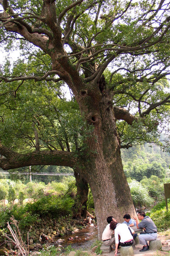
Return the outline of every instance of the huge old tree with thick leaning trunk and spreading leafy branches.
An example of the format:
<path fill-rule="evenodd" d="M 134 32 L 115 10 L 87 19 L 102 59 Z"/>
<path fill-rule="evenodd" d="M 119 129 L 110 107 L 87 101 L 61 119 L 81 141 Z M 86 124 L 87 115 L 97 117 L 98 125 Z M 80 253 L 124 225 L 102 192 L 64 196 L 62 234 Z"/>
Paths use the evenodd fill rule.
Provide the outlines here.
<path fill-rule="evenodd" d="M 91 188 L 101 238 L 107 216 L 135 215 L 120 148 L 153 142 L 168 116 L 170 3 L 0 3 L 1 45 L 24 56 L 1 65 L 0 167 L 72 167 Z M 70 108 L 81 113 L 75 123 L 74 111 L 70 119 L 57 105 L 64 84 L 74 95 Z"/>

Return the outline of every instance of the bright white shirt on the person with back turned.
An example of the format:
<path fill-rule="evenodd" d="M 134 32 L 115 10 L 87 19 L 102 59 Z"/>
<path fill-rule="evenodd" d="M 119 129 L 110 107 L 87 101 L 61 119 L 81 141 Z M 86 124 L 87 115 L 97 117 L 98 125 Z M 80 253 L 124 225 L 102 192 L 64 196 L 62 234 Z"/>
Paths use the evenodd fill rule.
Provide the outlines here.
<path fill-rule="evenodd" d="M 129 230 L 131 227 L 128 227 L 125 223 L 118 223 L 115 228 L 115 243 L 119 243 L 118 235 L 120 236 L 120 242 L 124 243 L 128 240 L 133 239 L 131 232 Z M 133 229 L 131 229 L 133 232 Z"/>

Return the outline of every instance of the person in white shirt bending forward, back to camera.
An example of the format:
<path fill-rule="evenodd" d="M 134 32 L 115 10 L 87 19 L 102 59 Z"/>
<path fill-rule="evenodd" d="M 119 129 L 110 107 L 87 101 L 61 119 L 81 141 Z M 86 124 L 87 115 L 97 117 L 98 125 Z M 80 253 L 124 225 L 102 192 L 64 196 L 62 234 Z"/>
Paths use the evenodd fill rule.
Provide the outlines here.
<path fill-rule="evenodd" d="M 117 223 L 116 221 L 111 221 L 110 229 L 114 230 L 114 234 L 115 234 L 115 256 L 116 256 L 119 245 L 131 246 L 133 244 L 132 234 L 134 234 L 135 231 L 130 227 L 128 227 L 127 224 Z"/>

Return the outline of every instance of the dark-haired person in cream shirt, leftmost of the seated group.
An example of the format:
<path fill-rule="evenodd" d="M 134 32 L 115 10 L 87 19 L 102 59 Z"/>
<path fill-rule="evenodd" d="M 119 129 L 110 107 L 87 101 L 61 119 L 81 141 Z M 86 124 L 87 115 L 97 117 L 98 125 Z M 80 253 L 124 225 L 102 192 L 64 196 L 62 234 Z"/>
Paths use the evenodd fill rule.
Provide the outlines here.
<path fill-rule="evenodd" d="M 107 222 L 109 223 L 102 234 L 102 240 L 105 246 L 112 246 L 115 244 L 115 237 L 114 237 L 114 231 L 110 229 L 110 223 L 111 221 L 116 221 L 113 216 L 109 216 L 107 218 Z"/>

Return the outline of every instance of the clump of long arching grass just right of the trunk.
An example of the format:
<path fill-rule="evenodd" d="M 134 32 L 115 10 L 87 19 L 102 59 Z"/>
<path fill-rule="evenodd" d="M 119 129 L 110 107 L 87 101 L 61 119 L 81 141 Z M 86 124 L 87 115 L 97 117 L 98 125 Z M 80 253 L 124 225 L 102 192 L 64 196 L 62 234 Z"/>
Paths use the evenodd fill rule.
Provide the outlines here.
<path fill-rule="evenodd" d="M 153 198 L 149 196 L 147 189 L 137 180 L 133 179 L 129 181 L 129 187 L 135 208 L 142 208 L 143 206 L 148 207 L 153 204 Z"/>

